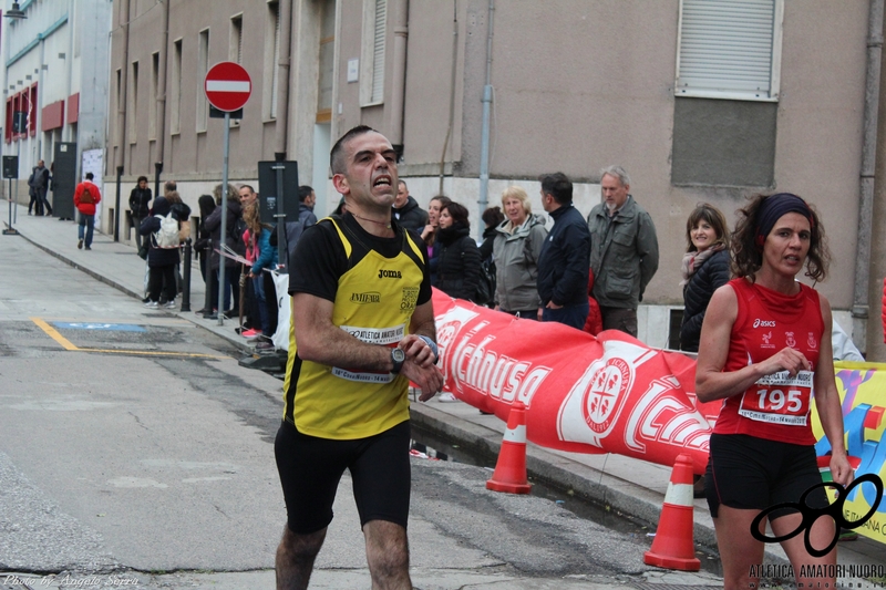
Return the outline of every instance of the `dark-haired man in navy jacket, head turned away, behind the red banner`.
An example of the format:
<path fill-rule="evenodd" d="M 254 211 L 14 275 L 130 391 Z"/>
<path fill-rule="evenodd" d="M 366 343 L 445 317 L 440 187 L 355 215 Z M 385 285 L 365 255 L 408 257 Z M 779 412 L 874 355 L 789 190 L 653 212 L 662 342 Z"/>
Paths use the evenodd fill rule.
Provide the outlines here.
<path fill-rule="evenodd" d="M 554 219 L 538 257 L 539 320 L 578 330 L 588 317 L 590 234 L 573 206 L 573 183 L 558 172 L 542 177 L 542 206 Z"/>

